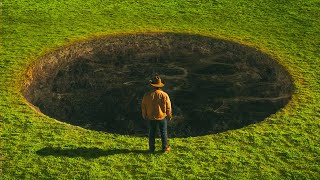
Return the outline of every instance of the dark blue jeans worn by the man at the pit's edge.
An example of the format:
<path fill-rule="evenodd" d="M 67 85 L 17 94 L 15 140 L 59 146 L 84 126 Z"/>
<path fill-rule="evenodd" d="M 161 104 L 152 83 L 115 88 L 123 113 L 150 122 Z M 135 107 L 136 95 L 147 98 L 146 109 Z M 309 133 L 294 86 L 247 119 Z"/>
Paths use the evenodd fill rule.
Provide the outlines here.
<path fill-rule="evenodd" d="M 162 150 L 168 147 L 168 134 L 167 134 L 168 120 L 165 117 L 162 120 L 150 120 L 149 123 L 149 150 L 155 150 L 155 139 L 157 134 L 157 128 L 160 129 Z"/>

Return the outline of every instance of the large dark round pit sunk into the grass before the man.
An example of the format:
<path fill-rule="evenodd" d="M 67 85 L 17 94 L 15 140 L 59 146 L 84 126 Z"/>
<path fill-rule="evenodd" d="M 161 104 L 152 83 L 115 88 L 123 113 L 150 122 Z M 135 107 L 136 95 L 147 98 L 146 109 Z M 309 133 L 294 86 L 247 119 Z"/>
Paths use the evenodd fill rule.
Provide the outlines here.
<path fill-rule="evenodd" d="M 177 33 L 99 37 L 46 54 L 27 71 L 25 98 L 42 113 L 87 129 L 146 135 L 141 100 L 159 74 L 172 101 L 170 137 L 237 129 L 284 107 L 289 73 L 235 42 Z"/>

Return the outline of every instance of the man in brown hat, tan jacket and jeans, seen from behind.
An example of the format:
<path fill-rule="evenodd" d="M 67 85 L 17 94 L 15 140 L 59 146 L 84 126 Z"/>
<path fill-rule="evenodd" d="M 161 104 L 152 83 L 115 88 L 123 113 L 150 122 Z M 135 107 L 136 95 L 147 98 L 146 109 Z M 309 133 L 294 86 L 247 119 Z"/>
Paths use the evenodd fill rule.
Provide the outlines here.
<path fill-rule="evenodd" d="M 156 76 L 154 80 L 150 80 L 150 85 L 153 90 L 144 94 L 141 111 L 143 119 L 149 120 L 149 150 L 155 150 L 155 137 L 157 127 L 160 129 L 162 151 L 169 152 L 170 146 L 168 145 L 167 124 L 168 120 L 172 119 L 171 102 L 168 94 L 161 90 L 164 84 L 161 78 Z"/>

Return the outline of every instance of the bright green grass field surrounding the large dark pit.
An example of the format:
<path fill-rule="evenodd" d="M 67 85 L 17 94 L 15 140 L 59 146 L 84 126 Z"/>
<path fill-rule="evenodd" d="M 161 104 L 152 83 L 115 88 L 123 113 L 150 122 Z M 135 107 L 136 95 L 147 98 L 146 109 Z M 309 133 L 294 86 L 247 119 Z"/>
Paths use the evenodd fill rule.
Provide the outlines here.
<path fill-rule="evenodd" d="M 0 118 L 3 179 L 319 179 L 319 0 L 3 0 Z M 171 138 L 148 154 L 147 138 L 86 130 L 32 109 L 26 67 L 93 36 L 183 32 L 270 54 L 291 73 L 290 103 L 261 123 Z M 158 145 L 159 145 L 159 141 Z"/>

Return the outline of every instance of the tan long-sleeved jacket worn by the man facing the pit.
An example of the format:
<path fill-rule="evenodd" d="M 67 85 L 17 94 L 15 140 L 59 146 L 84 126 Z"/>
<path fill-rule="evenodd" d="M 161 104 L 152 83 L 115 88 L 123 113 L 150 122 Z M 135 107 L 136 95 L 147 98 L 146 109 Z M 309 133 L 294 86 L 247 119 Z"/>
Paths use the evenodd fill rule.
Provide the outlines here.
<path fill-rule="evenodd" d="M 153 90 L 144 94 L 141 111 L 143 119 L 162 120 L 166 116 L 171 120 L 172 109 L 168 94 L 161 89 Z"/>

